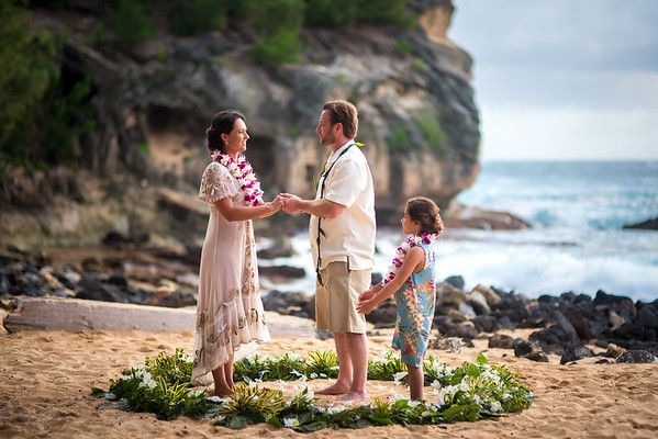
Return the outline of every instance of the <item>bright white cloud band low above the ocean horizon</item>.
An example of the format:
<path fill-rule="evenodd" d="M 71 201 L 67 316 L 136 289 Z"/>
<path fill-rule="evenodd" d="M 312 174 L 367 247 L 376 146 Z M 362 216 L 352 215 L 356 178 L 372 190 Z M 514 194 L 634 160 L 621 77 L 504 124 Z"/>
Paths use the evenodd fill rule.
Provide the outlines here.
<path fill-rule="evenodd" d="M 482 159 L 658 159 L 658 111 L 482 109 Z M 642 135 L 637 135 L 640 133 Z"/>

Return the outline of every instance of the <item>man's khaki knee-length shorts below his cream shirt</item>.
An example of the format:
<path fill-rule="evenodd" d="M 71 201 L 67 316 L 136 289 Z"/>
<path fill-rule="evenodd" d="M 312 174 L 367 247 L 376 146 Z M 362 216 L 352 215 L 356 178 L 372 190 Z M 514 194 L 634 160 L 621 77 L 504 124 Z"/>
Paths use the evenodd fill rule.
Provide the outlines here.
<path fill-rule="evenodd" d="M 366 334 L 366 316 L 357 313 L 358 296 L 370 288 L 371 270 L 347 270 L 347 262 L 330 262 L 315 285 L 315 325 L 332 333 Z"/>

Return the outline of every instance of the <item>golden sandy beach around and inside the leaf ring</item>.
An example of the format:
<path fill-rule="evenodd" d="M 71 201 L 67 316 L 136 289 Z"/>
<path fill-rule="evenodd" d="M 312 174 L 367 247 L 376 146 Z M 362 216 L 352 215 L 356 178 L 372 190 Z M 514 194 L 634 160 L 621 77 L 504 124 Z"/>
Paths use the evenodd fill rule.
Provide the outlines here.
<path fill-rule="evenodd" d="M 2 318 L 3 315 L 0 315 Z M 525 334 L 518 334 L 525 335 Z M 89 396 L 91 387 L 108 389 L 109 380 L 125 368 L 142 363 L 160 351 L 192 349 L 192 331 L 22 331 L 0 334 L 0 437 L 2 438 L 204 438 L 231 435 L 287 438 L 655 438 L 658 435 L 658 368 L 655 364 L 594 364 L 596 358 L 560 365 L 559 358 L 535 363 L 515 358 L 511 350 L 486 351 L 490 362 L 508 365 L 521 375 L 538 399 L 520 414 L 499 420 L 457 423 L 438 426 L 369 427 L 359 430 L 320 430 L 297 434 L 265 424 L 244 430 L 214 426 L 208 419 L 157 420 L 155 415 L 101 408 L 103 401 Z M 370 352 L 388 349 L 390 331 L 370 337 Z M 451 365 L 473 361 L 487 340 L 475 340 L 475 348 L 460 353 L 431 350 Z M 263 354 L 286 351 L 304 354 L 328 350 L 333 340 L 313 337 L 275 337 L 264 345 Z M 319 389 L 326 380 L 310 382 Z M 275 385 L 269 383 L 269 385 Z M 287 383 L 292 390 L 295 383 Z M 372 381 L 372 396 L 394 393 L 406 396 L 408 389 Z M 431 398 L 430 389 L 426 397 Z M 335 398 L 323 397 L 331 405 Z"/>

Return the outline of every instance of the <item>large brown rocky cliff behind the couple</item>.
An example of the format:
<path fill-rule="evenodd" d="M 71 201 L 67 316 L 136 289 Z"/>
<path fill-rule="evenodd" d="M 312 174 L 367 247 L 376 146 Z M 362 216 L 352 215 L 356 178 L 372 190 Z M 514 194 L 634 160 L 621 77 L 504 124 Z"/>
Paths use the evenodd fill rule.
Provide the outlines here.
<path fill-rule="evenodd" d="M 305 29 L 301 61 L 272 69 L 253 63 L 249 33 L 239 27 L 200 37 L 166 36 L 109 54 L 90 43 L 93 23 L 36 13 L 44 25 L 67 33 L 66 72 L 91 79 L 98 121 L 85 140 L 85 170 L 54 180 L 64 181 L 59 187 L 77 188 L 79 202 L 69 198 L 48 216 L 70 216 L 76 211 L 71 203 L 88 207 L 102 203 L 103 212 L 112 214 L 96 209 L 93 214 L 80 211 L 74 215 L 76 221 L 63 219 L 60 226 L 47 219 L 27 226 L 20 219 L 7 225 L 8 215 L 20 216 L 3 209 L 3 235 L 20 235 L 31 227 L 35 238 L 41 236 L 35 229 L 44 236 L 64 236 L 76 224 L 88 225 L 96 234 L 150 229 L 161 222 L 158 209 L 194 203 L 209 160 L 204 130 L 212 115 L 226 108 L 238 109 L 247 117 L 252 136 L 247 156 L 267 198 L 279 191 L 310 195 L 326 157 L 314 127 L 322 104 L 338 98 L 359 109 L 357 140 L 365 144 L 378 205 L 398 207 L 419 194 L 447 205 L 479 170 L 471 58 L 446 35 L 451 1 L 413 1 L 411 7 L 420 24 L 413 30 Z M 99 183 L 104 192 L 97 199 L 90 195 L 94 178 L 105 181 Z M 111 190 L 108 180 L 113 181 Z M 62 193 L 47 176 L 36 182 L 33 178 L 31 184 L 34 193 Z M 30 199 L 18 187 L 8 190 L 5 185 L 10 202 Z M 122 193 L 126 187 L 131 195 Z M 187 194 L 187 200 L 182 195 L 186 201 L 180 201 L 169 190 Z M 118 193 L 121 196 L 114 196 Z"/>

